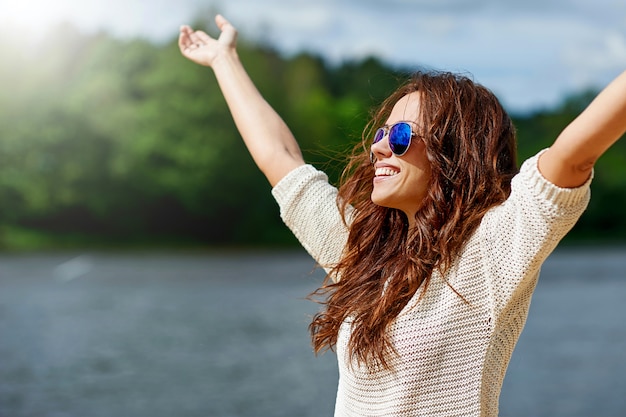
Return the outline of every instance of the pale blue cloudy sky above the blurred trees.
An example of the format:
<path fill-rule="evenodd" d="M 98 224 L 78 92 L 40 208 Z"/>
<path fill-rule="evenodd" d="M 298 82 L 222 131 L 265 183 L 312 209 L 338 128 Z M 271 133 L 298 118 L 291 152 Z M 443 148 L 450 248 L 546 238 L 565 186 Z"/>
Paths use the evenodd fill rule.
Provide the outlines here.
<path fill-rule="evenodd" d="M 470 74 L 518 112 L 626 70 L 626 0 L 0 0 L 0 34 L 37 39 L 70 22 L 160 42 L 216 11 L 285 54 Z"/>

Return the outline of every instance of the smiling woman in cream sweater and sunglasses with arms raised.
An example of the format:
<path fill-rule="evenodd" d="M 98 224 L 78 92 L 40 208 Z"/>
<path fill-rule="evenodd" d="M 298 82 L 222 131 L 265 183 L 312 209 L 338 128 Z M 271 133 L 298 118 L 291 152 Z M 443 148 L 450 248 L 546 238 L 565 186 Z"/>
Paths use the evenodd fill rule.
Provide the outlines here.
<path fill-rule="evenodd" d="M 337 190 L 261 97 L 222 16 L 179 46 L 213 69 L 281 216 L 328 272 L 311 323 L 336 349 L 337 416 L 495 416 L 542 262 L 626 131 L 626 73 L 516 168 L 515 133 L 471 80 L 415 74 L 380 107 Z"/>

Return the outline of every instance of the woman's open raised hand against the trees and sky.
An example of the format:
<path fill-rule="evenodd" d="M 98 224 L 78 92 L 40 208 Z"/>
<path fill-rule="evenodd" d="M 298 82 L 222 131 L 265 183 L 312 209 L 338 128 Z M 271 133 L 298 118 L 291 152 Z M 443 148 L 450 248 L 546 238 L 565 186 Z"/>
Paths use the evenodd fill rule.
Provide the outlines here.
<path fill-rule="evenodd" d="M 217 39 L 201 30 L 193 30 L 187 25 L 181 26 L 178 46 L 185 58 L 211 67 L 220 54 L 234 51 L 237 44 L 237 30 L 222 15 L 215 16 L 215 23 L 221 31 Z"/>

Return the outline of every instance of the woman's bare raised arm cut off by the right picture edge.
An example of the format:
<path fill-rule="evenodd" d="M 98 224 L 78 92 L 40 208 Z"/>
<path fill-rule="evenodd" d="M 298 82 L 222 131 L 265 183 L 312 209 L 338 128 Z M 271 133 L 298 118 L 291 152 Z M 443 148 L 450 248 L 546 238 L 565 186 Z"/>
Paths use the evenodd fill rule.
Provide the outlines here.
<path fill-rule="evenodd" d="M 611 82 L 539 159 L 539 170 L 565 188 L 582 185 L 595 162 L 626 132 L 626 72 Z"/>

